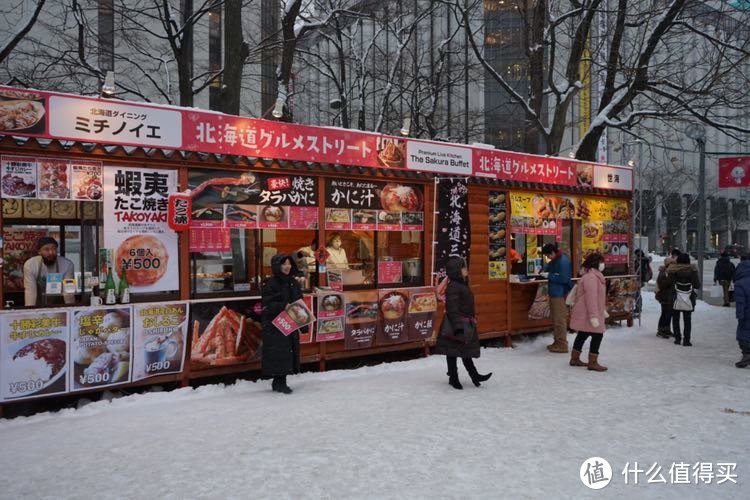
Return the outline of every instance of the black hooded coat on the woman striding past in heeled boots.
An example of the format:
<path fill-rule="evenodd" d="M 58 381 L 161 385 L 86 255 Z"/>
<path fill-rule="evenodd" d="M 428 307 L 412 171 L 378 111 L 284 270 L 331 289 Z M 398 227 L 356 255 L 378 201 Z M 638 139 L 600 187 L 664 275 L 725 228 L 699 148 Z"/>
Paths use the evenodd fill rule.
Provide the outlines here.
<path fill-rule="evenodd" d="M 467 342 L 461 343 L 439 335 L 433 352 L 457 358 L 478 358 L 479 335 L 476 329 L 474 294 L 461 272 L 464 265 L 464 260 L 460 258 L 451 258 L 446 263 L 445 272 L 449 282 L 445 290 L 443 322 L 450 321 L 454 332 L 464 330 Z M 442 324 L 440 330 L 443 330 Z"/>

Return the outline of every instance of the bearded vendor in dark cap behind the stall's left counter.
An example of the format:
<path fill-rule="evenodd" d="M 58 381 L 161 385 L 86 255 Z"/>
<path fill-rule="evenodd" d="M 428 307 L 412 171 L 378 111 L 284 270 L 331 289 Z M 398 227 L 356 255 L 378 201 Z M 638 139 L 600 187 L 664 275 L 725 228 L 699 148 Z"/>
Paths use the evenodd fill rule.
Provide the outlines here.
<path fill-rule="evenodd" d="M 26 307 L 75 303 L 75 293 L 63 293 L 65 280 L 74 279 L 73 262 L 57 255 L 57 240 L 50 236 L 39 238 L 35 248 L 38 255 L 23 264 Z"/>

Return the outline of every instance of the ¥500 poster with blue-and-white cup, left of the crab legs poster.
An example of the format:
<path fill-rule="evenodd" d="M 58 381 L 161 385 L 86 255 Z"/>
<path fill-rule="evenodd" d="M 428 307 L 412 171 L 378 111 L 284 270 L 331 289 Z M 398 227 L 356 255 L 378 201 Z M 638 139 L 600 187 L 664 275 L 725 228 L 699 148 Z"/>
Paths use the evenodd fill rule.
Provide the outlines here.
<path fill-rule="evenodd" d="M 187 302 L 133 305 L 133 381 L 182 371 L 187 325 Z"/>

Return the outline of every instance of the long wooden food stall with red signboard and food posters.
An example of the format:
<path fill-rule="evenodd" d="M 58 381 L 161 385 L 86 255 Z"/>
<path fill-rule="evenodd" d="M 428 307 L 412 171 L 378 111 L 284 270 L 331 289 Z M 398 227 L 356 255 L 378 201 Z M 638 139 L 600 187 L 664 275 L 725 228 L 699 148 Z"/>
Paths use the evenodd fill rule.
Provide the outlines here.
<path fill-rule="evenodd" d="M 0 99 L 0 405 L 258 370 L 277 253 L 305 274 L 302 362 L 321 370 L 428 354 L 450 255 L 469 260 L 483 339 L 548 329 L 528 314 L 548 240 L 628 275 L 627 168 L 11 87 Z M 74 262 L 73 305 L 25 304 L 41 236 Z M 327 262 L 334 239 L 343 265 Z"/>

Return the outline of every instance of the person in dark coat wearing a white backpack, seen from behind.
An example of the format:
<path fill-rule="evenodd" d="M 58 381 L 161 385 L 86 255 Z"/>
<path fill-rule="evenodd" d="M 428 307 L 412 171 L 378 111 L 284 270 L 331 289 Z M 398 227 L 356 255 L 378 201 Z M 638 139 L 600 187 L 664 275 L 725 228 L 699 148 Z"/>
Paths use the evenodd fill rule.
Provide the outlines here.
<path fill-rule="evenodd" d="M 691 317 L 695 309 L 697 297 L 696 289 L 700 288 L 701 281 L 698 277 L 698 268 L 690 263 L 690 256 L 686 253 L 677 256 L 677 262 L 669 266 L 667 270 L 667 284 L 669 286 L 669 299 L 672 301 L 672 333 L 674 343 L 683 346 L 692 346 L 691 339 Z M 680 315 L 684 328 L 680 334 Z"/>

